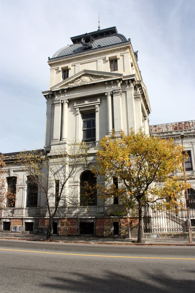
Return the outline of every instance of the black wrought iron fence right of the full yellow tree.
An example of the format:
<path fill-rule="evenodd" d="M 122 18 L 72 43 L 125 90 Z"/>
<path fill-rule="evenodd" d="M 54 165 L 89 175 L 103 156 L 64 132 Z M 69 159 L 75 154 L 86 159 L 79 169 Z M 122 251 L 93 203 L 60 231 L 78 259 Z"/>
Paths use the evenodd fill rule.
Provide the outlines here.
<path fill-rule="evenodd" d="M 195 202 L 190 202 L 191 228 L 195 231 Z M 187 209 L 158 210 L 144 206 L 144 233 L 188 232 Z"/>

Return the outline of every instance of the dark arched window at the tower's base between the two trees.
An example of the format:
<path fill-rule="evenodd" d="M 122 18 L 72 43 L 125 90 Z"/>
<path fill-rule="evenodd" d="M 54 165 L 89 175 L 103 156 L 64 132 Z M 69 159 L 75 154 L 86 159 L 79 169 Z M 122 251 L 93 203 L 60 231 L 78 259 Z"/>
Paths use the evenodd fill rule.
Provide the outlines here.
<path fill-rule="evenodd" d="M 81 176 L 80 205 L 97 205 L 96 177 L 91 171 Z"/>

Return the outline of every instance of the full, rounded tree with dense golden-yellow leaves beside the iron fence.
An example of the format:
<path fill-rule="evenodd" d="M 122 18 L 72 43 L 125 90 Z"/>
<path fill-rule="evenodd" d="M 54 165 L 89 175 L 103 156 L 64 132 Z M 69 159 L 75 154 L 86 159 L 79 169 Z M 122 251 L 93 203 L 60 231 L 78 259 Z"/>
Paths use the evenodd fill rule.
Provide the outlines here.
<path fill-rule="evenodd" d="M 118 178 L 118 188 L 115 184 L 110 188 L 99 185 L 99 194 L 105 200 L 119 196 L 127 211 L 137 207 L 138 243 L 142 235 L 142 207 L 155 204 L 159 209 L 169 209 L 181 198 L 185 183 L 172 173 L 182 171 L 182 161 L 182 146 L 174 144 L 173 139 L 147 136 L 141 129 L 131 129 L 129 135 L 121 131 L 120 137 L 113 131 L 111 137 L 101 139 L 93 171 L 104 175 L 106 182 Z"/>

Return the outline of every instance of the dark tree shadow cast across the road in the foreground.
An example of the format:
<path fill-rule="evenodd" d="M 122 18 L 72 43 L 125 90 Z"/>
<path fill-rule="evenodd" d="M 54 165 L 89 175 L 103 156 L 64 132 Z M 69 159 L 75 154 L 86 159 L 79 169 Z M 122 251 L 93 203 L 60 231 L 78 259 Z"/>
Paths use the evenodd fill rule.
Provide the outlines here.
<path fill-rule="evenodd" d="M 120 269 L 119 269 L 120 270 Z M 128 273 L 127 273 L 128 274 Z M 66 273 L 65 276 L 51 277 L 47 284 L 49 292 L 69 293 L 188 293 L 194 292 L 194 279 L 179 280 L 169 275 L 158 275 L 142 270 L 140 275 L 122 275 L 111 271 L 101 271 L 98 276 L 82 272 Z M 193 279 L 193 280 L 192 280 Z M 51 289 L 55 291 L 50 291 Z"/>

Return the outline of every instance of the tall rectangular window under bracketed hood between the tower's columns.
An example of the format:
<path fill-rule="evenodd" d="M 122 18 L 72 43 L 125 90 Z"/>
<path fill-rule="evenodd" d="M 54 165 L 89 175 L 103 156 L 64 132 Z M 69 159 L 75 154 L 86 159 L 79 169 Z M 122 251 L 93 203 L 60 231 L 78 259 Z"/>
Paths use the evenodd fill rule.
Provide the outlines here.
<path fill-rule="evenodd" d="M 96 113 L 83 114 L 83 140 L 85 142 L 96 140 Z"/>

